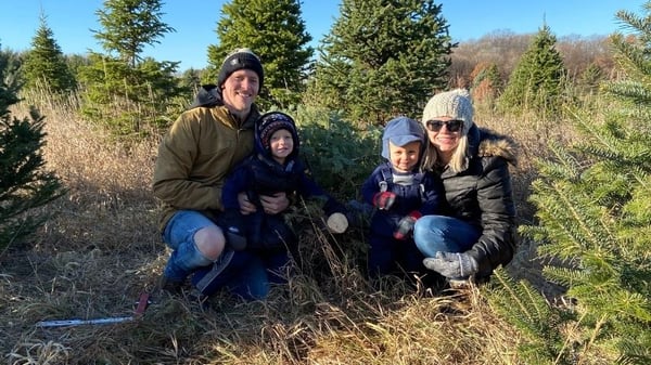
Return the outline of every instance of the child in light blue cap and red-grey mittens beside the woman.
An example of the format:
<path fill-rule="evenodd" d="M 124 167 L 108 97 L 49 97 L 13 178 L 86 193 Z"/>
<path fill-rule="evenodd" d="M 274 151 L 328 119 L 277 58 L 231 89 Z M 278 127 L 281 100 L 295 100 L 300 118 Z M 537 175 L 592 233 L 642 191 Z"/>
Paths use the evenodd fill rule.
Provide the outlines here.
<path fill-rule="evenodd" d="M 418 121 L 397 117 L 382 135 L 382 157 L 361 186 L 366 203 L 375 210 L 369 233 L 369 275 L 425 274 L 423 256 L 413 242 L 413 224 L 424 214 L 436 213 L 443 185 L 420 170 L 425 131 Z"/>

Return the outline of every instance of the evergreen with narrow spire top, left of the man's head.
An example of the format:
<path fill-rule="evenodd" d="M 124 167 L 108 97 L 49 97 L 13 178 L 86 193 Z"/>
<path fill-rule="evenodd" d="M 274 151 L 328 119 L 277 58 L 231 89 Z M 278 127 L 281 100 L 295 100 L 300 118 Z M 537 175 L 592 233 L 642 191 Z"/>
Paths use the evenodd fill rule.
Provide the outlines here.
<path fill-rule="evenodd" d="M 157 62 L 140 54 L 174 28 L 161 21 L 159 0 L 106 0 L 99 10 L 102 31 L 94 30 L 108 54 L 91 53 L 81 66 L 88 103 L 82 113 L 118 136 L 142 135 L 174 120 L 167 102 L 183 93 L 175 74 L 179 62 Z M 114 55 L 116 54 L 116 55 Z"/>

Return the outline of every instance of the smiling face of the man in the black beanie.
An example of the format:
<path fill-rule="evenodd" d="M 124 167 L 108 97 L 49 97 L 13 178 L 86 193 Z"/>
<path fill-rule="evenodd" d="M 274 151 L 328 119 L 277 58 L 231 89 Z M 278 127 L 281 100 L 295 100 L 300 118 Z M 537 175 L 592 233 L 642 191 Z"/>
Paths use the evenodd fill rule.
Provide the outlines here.
<path fill-rule="evenodd" d="M 238 69 L 232 73 L 224 82 L 221 96 L 224 105 L 230 112 L 241 118 L 244 118 L 251 112 L 251 104 L 259 92 L 259 79 L 255 71 L 251 69 Z"/>

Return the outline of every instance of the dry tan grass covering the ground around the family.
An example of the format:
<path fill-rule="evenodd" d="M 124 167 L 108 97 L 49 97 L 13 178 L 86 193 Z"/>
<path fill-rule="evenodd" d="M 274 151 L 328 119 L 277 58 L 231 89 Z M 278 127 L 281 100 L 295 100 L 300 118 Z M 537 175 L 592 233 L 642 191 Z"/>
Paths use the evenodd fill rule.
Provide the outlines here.
<path fill-rule="evenodd" d="M 156 230 L 150 183 L 157 141 L 107 142 L 76 114 L 78 101 L 29 95 L 47 116 L 48 168 L 69 188 L 25 247 L 0 257 L 0 352 L 10 364 L 519 364 L 518 334 L 487 307 L 480 289 L 436 292 L 386 278 L 374 289 L 355 249 L 311 220 L 302 235 L 304 265 L 264 302 L 218 295 L 154 298 L 142 320 L 41 328 L 39 321 L 130 315 L 167 258 Z M 26 113 L 20 105 L 14 114 Z M 524 146 L 514 171 L 524 222 L 544 154 L 542 129 L 494 116 L 478 119 Z M 527 126 L 528 125 L 528 126 Z M 526 127 L 524 127 L 526 126 Z M 558 133 L 558 132 L 557 132 Z M 346 242 L 363 246 L 362 232 Z M 334 245 L 336 246 L 336 245 Z M 353 245 L 355 246 L 355 245 Z M 539 278 L 524 245 L 511 272 Z M 539 282 L 541 283 L 541 282 Z"/>

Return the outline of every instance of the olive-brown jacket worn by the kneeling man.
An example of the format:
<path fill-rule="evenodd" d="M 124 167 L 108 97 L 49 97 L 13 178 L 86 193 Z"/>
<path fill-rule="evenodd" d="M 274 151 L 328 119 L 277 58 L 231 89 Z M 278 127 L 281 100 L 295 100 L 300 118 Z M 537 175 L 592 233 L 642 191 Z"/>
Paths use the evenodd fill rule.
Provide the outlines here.
<path fill-rule="evenodd" d="M 179 116 L 158 146 L 154 168 L 154 196 L 164 205 L 161 232 L 177 210 L 197 210 L 212 219 L 222 210 L 221 186 L 233 166 L 253 152 L 258 117 L 255 105 L 242 122 L 224 105 Z"/>

